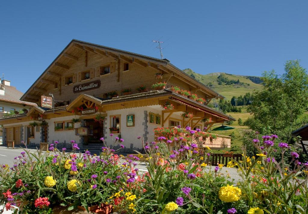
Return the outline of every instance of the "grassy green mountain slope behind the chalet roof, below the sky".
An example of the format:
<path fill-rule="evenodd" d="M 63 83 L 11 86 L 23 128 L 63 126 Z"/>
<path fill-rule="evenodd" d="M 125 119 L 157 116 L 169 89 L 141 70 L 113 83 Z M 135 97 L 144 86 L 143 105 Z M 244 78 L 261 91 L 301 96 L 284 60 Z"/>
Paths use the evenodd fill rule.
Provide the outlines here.
<path fill-rule="evenodd" d="M 260 90 L 262 81 L 257 76 L 233 75 L 224 72 L 209 73 L 206 75 L 198 74 L 190 68 L 183 70 L 188 75 L 197 79 L 206 86 L 231 100 L 233 96 L 245 95 L 253 90 Z"/>

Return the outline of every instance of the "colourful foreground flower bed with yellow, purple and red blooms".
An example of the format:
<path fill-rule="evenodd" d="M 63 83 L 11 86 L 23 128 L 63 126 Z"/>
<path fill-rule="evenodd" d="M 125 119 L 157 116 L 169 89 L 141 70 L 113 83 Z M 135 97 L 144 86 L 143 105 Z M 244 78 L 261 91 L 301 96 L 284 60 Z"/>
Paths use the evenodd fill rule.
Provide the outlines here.
<path fill-rule="evenodd" d="M 112 147 L 102 147 L 99 155 L 75 153 L 75 142 L 71 153 L 59 151 L 57 143 L 45 154 L 25 149 L 11 168 L 0 167 L 0 204 L 7 210 L 18 206 L 19 213 L 52 213 L 59 207 L 75 213 L 78 207 L 88 211 L 106 206 L 128 214 L 306 213 L 308 162 L 300 163 L 287 143 L 278 143 L 276 135 L 254 139 L 255 156 L 244 151 L 242 161 L 228 163 L 237 166 L 241 176 L 235 185 L 221 174 L 223 164 L 208 166 L 211 150 L 200 148 L 199 132 L 177 131 L 185 135 L 171 140 L 178 146 L 172 152 L 162 143 L 164 138 L 149 143 L 138 137 L 148 160 L 145 173 L 136 168 L 141 154 L 119 164 Z M 113 145 L 123 141 L 116 137 Z M 273 158 L 277 152 L 282 162 Z"/>

